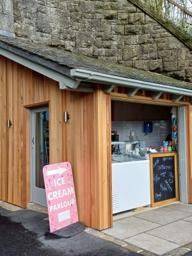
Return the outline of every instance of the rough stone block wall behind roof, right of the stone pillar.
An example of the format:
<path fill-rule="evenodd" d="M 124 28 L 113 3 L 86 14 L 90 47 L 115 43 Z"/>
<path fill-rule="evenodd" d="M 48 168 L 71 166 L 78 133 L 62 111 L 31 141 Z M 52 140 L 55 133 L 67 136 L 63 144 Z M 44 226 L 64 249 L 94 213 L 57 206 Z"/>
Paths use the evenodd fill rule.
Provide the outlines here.
<path fill-rule="evenodd" d="M 13 3 L 16 36 L 192 82 L 192 51 L 127 0 Z"/>

